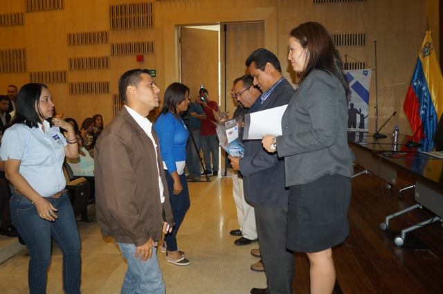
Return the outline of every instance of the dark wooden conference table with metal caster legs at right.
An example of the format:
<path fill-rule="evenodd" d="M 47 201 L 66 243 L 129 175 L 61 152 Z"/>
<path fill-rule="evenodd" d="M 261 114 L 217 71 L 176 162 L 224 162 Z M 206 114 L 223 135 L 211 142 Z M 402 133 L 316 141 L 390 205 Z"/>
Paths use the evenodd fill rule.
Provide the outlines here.
<path fill-rule="evenodd" d="M 386 216 L 380 223 L 381 230 L 388 229 L 390 219 L 417 208 L 426 208 L 434 216 L 401 230 L 401 235 L 394 239 L 397 246 L 404 244 L 408 232 L 436 221 L 442 222 L 443 226 L 443 159 L 424 154 L 419 148 L 406 147 L 410 136 L 400 135 L 399 143 L 394 144 L 390 135 L 379 139 L 372 135 L 365 132 L 347 133 L 348 143 L 356 156 L 355 163 L 365 169 L 354 176 L 370 172 L 385 180 L 388 188 L 397 184 L 399 171 L 406 172 L 415 179 L 415 185 L 408 188 L 415 189 L 414 199 L 417 203 Z"/>

